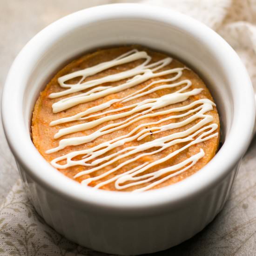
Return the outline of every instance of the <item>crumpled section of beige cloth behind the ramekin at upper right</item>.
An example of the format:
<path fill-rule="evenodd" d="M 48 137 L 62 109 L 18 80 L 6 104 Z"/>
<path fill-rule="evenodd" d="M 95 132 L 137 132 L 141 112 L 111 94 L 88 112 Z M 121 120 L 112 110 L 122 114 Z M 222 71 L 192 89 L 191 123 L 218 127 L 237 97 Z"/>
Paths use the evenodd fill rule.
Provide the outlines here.
<path fill-rule="evenodd" d="M 144 0 L 170 7 L 214 29 L 237 52 L 256 89 L 256 0 Z"/>

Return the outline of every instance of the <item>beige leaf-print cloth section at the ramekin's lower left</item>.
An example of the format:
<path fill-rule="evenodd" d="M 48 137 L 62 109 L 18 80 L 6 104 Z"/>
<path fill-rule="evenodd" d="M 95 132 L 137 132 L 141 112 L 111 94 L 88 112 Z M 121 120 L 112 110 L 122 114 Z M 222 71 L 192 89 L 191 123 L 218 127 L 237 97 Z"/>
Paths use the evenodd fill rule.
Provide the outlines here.
<path fill-rule="evenodd" d="M 0 255 L 4 256 L 101 255 L 50 228 L 28 201 L 21 180 L 0 206 L 0 241 Z"/>

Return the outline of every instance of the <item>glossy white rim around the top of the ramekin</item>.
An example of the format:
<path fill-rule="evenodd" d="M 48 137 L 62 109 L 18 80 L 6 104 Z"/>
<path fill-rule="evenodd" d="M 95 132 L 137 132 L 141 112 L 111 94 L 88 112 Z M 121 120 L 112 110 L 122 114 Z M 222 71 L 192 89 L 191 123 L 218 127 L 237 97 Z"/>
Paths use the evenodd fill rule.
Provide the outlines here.
<path fill-rule="evenodd" d="M 133 12 L 131 12 L 133 10 Z M 101 15 L 97 15 L 95 17 L 95 13 L 100 13 Z M 88 14 L 88 15 L 86 15 Z M 44 40 L 44 36 L 46 34 L 54 35 L 56 32 L 56 29 L 58 27 L 63 28 L 63 24 L 65 23 L 67 25 L 67 22 L 69 23 L 69 27 L 66 29 L 71 29 L 72 26 L 78 26 L 77 23 L 74 24 L 77 17 L 87 16 L 89 17 L 88 22 L 95 22 L 96 20 L 104 20 L 104 19 L 121 19 L 121 18 L 144 18 L 149 20 L 157 20 L 160 22 L 164 22 L 166 24 L 172 25 L 175 23 L 176 26 L 178 19 L 182 18 L 183 23 L 185 23 L 187 26 L 190 26 L 190 28 L 196 27 L 196 31 L 194 31 L 194 36 L 199 37 L 204 43 L 206 43 L 205 40 L 202 38 L 202 34 L 204 34 L 204 37 L 210 37 L 214 38 L 215 40 L 209 42 L 208 44 L 217 45 L 218 43 L 222 45 L 222 47 L 217 48 L 218 54 L 227 54 L 228 57 L 231 58 L 233 61 L 229 61 L 230 67 L 232 66 L 233 69 L 240 68 L 240 76 L 243 76 L 244 84 L 247 84 L 247 86 L 244 86 L 243 90 L 239 89 L 238 86 L 236 86 L 235 89 L 232 91 L 234 94 L 233 97 L 236 98 L 237 105 L 235 106 L 234 113 L 236 114 L 234 116 L 233 125 L 230 130 L 230 134 L 225 141 L 224 145 L 218 152 L 218 154 L 213 158 L 211 162 L 207 164 L 206 167 L 209 170 L 212 170 L 211 178 L 208 178 L 205 183 L 198 183 L 204 177 L 203 171 L 199 171 L 196 174 L 186 178 L 182 182 L 178 182 L 172 186 L 168 186 L 162 189 L 155 189 L 152 191 L 147 191 L 139 194 L 135 193 L 121 193 L 121 192 L 110 192 L 110 191 L 102 191 L 102 190 L 94 190 L 91 188 L 84 188 L 81 185 L 77 184 L 77 182 L 72 181 L 71 179 L 65 177 L 58 171 L 54 172 L 55 169 L 50 166 L 42 157 L 38 155 L 36 148 L 31 148 L 33 145 L 29 145 L 27 141 L 28 148 L 23 148 L 22 145 L 20 145 L 20 142 L 22 144 L 22 136 L 19 138 L 18 134 L 11 133 L 11 127 L 15 125 L 15 122 L 20 120 L 19 118 L 15 120 L 11 120 L 8 118 L 8 113 L 14 114 L 17 109 L 15 110 L 15 107 L 13 107 L 12 104 L 16 104 L 15 102 L 9 101 L 10 93 L 12 91 L 10 88 L 10 85 L 12 84 L 12 73 L 15 71 L 17 67 L 20 67 L 22 65 L 22 59 L 28 58 L 26 56 L 27 51 L 29 50 L 29 47 L 32 47 L 33 45 L 38 42 L 38 40 Z M 77 21 L 77 20 L 76 20 Z M 81 21 L 80 21 L 81 22 Z M 61 25 L 62 24 L 62 25 Z M 179 24 L 180 28 L 184 29 L 184 25 Z M 74 28 L 74 27 L 73 27 Z M 199 32 L 200 30 L 200 32 Z M 63 33 L 63 31 L 62 31 Z M 53 36 L 54 37 L 54 36 Z M 237 76 L 237 74 L 235 74 Z M 238 79 L 238 77 L 237 77 Z M 238 82 L 237 82 L 238 84 Z M 23 85 L 26 86 L 26 85 Z M 235 85 L 234 85 L 235 86 Z M 17 95 L 16 95 L 17 96 Z M 244 99 L 246 101 L 244 102 Z M 15 105 L 16 106 L 16 105 Z M 17 106 L 16 106 L 17 107 Z M 243 110 L 249 111 L 249 114 L 247 117 L 251 118 L 245 118 L 245 115 L 243 114 Z M 64 196 L 67 198 L 72 198 L 72 200 L 75 200 L 76 202 L 83 202 L 90 205 L 98 206 L 98 207 L 104 207 L 108 209 L 119 209 L 119 210 L 134 210 L 134 209 L 154 209 L 157 206 L 166 205 L 166 204 L 179 204 L 181 202 L 185 202 L 189 197 L 200 193 L 200 191 L 207 189 L 209 186 L 213 185 L 216 182 L 220 182 L 222 177 L 227 174 L 227 172 L 230 171 L 231 168 L 233 168 L 236 163 L 242 158 L 243 154 L 245 153 L 246 149 L 249 146 L 249 142 L 251 140 L 252 132 L 253 132 L 253 126 L 254 126 L 254 117 L 255 117 L 255 103 L 254 103 L 254 94 L 253 89 L 251 86 L 251 82 L 249 79 L 249 75 L 247 74 L 247 71 L 245 67 L 243 66 L 241 60 L 235 53 L 235 51 L 228 45 L 228 43 L 223 40 L 218 34 L 216 34 L 213 30 L 211 30 L 209 27 L 206 27 L 202 23 L 200 23 L 197 20 L 194 20 L 182 13 L 178 13 L 173 10 L 166 10 L 162 7 L 150 7 L 140 4 L 111 4 L 111 5 L 104 5 L 104 6 L 98 6 L 98 7 L 92 7 L 88 9 L 81 10 L 76 13 L 72 13 L 70 15 L 67 15 L 66 17 L 61 18 L 60 20 L 55 21 L 54 23 L 50 24 L 46 28 L 44 28 L 42 31 L 40 31 L 37 35 L 34 36 L 33 39 L 31 39 L 27 45 L 21 50 L 20 54 L 16 57 L 15 61 L 13 62 L 13 65 L 9 71 L 9 74 L 7 76 L 7 81 L 2 93 L 2 121 L 3 121 L 3 127 L 4 131 L 7 137 L 7 141 L 9 143 L 9 146 L 14 154 L 14 156 L 18 159 L 18 162 L 21 163 L 22 166 L 24 166 L 24 169 L 28 172 L 29 175 L 33 176 L 34 179 L 37 180 L 42 186 L 46 186 L 48 189 L 51 189 L 52 191 L 57 192 L 58 194 Z M 20 110 L 21 111 L 21 110 Z M 18 112 L 17 112 L 18 113 Z M 243 124 L 243 131 L 244 136 L 239 134 L 240 129 L 242 128 L 241 125 L 239 126 L 238 123 Z M 24 125 L 21 123 L 17 123 L 14 127 L 19 127 L 19 125 Z M 24 127 L 25 131 L 25 127 Z M 23 132 L 24 132 L 23 131 Z M 21 133 L 20 135 L 24 135 L 24 133 Z M 232 141 L 232 137 L 236 135 L 236 142 L 237 145 L 240 145 L 239 148 L 236 148 L 236 151 L 233 155 L 229 155 L 229 152 L 225 152 L 224 150 L 228 151 L 229 149 L 235 147 L 234 141 Z M 24 141 L 26 144 L 26 141 Z M 30 141 L 31 142 L 31 141 Z M 228 144 L 228 145 L 227 145 Z M 227 148 L 227 149 L 226 149 Z M 27 151 L 26 151 L 27 149 Z M 37 152 L 37 153 L 36 153 Z M 40 161 L 40 164 L 32 163 L 28 161 L 28 156 L 26 153 L 32 154 L 33 157 L 35 157 L 36 160 Z M 222 171 L 216 171 L 214 173 L 214 169 L 220 167 L 221 164 L 221 157 L 229 156 L 229 162 L 226 162 L 225 166 L 222 167 Z M 34 158 L 33 158 L 34 159 Z M 217 164 L 218 163 L 218 164 Z M 202 168 L 202 169 L 204 169 Z M 49 180 L 47 177 L 47 174 L 45 174 L 44 171 L 46 169 L 49 169 L 49 171 L 52 172 L 52 178 Z M 48 172 L 47 172 L 48 173 Z M 201 176 L 201 178 L 200 178 Z M 196 179 L 196 178 L 197 179 Z M 183 189 L 183 190 L 182 190 Z M 86 193 L 90 195 L 90 197 L 86 197 Z"/>

